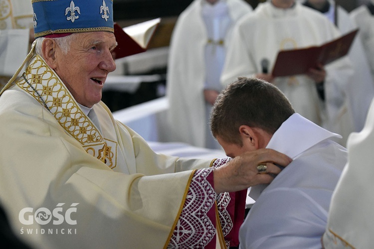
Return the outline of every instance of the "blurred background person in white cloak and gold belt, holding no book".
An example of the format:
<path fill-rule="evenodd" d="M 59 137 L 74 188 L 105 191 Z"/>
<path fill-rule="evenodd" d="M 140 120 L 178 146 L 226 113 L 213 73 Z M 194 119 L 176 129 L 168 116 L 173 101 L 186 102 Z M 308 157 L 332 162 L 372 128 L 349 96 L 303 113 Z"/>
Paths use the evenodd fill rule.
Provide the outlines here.
<path fill-rule="evenodd" d="M 171 140 L 221 149 L 210 134 L 210 110 L 232 27 L 251 10 L 243 0 L 194 0 L 179 16 L 168 61 Z"/>

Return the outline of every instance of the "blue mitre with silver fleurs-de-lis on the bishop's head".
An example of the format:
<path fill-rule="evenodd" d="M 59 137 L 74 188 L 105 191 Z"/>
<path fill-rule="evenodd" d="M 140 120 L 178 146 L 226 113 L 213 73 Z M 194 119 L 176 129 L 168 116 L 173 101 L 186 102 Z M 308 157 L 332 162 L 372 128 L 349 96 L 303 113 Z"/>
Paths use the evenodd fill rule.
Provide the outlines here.
<path fill-rule="evenodd" d="M 32 0 L 35 38 L 113 29 L 113 0 Z"/>

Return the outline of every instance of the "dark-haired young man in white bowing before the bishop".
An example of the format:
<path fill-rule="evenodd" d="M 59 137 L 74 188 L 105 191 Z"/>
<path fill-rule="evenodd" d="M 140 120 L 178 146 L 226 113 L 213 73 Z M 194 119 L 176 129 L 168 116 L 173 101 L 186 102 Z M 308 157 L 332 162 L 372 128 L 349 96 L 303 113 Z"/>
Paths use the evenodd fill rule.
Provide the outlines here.
<path fill-rule="evenodd" d="M 332 140 L 341 136 L 295 113 L 276 86 L 244 77 L 220 93 L 210 128 L 227 156 L 272 148 L 293 159 L 271 184 L 251 188 L 256 203 L 240 228 L 240 248 L 321 248 L 347 161 L 346 148 Z M 266 173 L 266 165 L 258 170 Z"/>

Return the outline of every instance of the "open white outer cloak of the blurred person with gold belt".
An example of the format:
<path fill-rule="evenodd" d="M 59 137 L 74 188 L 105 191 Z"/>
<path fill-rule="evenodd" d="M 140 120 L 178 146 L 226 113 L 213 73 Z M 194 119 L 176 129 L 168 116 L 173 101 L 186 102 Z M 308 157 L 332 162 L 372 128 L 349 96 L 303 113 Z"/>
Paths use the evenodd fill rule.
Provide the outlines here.
<path fill-rule="evenodd" d="M 206 109 L 204 53 L 208 36 L 202 18 L 202 0 L 194 0 L 179 16 L 174 28 L 168 62 L 167 97 L 170 103 L 172 140 L 194 146 L 206 145 Z M 251 11 L 242 0 L 227 0 L 231 22 Z M 226 33 L 227 47 L 232 26 Z"/>

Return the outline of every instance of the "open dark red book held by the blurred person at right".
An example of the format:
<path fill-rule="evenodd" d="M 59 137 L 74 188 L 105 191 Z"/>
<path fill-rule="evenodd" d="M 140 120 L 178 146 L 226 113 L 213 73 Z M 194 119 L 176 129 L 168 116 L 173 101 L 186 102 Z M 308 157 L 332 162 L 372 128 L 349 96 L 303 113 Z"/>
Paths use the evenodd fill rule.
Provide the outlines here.
<path fill-rule="evenodd" d="M 279 51 L 272 75 L 291 76 L 305 74 L 317 64 L 326 65 L 348 54 L 359 30 L 355 29 L 340 38 L 321 46 Z"/>

